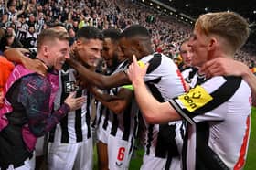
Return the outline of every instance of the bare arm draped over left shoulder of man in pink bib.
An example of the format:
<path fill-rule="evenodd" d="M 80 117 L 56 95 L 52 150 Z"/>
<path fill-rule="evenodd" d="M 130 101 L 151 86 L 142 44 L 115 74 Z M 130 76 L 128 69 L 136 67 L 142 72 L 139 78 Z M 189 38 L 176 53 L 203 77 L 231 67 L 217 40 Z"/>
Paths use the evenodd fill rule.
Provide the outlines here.
<path fill-rule="evenodd" d="M 45 76 L 48 69 L 47 66 L 38 59 L 27 58 L 24 56 L 25 53 L 29 53 L 25 48 L 9 48 L 5 50 L 4 55 L 8 60 L 21 63 L 25 68 Z"/>

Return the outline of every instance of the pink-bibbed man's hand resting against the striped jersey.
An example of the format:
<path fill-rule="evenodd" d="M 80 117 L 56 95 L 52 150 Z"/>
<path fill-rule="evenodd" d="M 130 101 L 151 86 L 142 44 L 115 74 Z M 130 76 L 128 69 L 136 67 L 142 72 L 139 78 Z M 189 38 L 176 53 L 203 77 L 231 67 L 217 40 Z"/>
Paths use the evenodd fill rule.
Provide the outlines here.
<path fill-rule="evenodd" d="M 77 109 L 80 109 L 80 107 L 84 104 L 86 101 L 86 98 L 84 96 L 75 98 L 76 92 L 71 92 L 67 99 L 64 101 L 66 104 L 69 105 L 70 111 L 75 111 Z"/>

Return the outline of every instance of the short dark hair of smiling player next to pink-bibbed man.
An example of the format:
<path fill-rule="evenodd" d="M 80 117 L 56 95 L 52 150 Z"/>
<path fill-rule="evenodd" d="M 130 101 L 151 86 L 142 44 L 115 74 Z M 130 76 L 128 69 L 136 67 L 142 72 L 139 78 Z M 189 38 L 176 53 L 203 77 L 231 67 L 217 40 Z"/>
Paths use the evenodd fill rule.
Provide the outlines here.
<path fill-rule="evenodd" d="M 76 33 L 76 38 L 84 38 L 84 39 L 100 39 L 103 40 L 103 35 L 100 29 L 96 27 L 81 27 Z"/>

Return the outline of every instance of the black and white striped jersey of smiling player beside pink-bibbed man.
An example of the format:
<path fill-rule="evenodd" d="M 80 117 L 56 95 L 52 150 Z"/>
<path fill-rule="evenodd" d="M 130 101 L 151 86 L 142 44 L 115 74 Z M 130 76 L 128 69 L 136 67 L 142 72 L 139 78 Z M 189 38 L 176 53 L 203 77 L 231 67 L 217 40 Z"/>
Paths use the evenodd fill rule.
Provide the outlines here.
<path fill-rule="evenodd" d="M 91 138 L 91 93 L 80 90 L 75 82 L 75 69 L 62 69 L 59 71 L 59 91 L 54 102 L 54 109 L 76 90 L 77 96 L 86 96 L 87 101 L 81 109 L 69 112 L 56 128 L 50 132 L 49 142 L 54 143 L 79 143 Z"/>

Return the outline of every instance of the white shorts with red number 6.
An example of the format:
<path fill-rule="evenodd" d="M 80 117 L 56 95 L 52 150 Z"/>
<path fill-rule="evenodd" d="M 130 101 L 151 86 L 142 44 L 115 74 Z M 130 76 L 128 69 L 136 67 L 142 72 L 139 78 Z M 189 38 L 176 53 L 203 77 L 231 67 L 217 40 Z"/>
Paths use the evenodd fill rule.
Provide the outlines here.
<path fill-rule="evenodd" d="M 109 134 L 108 140 L 108 157 L 109 169 L 128 169 L 131 156 L 133 154 L 133 140 L 132 142 L 123 141 L 117 137 Z"/>

